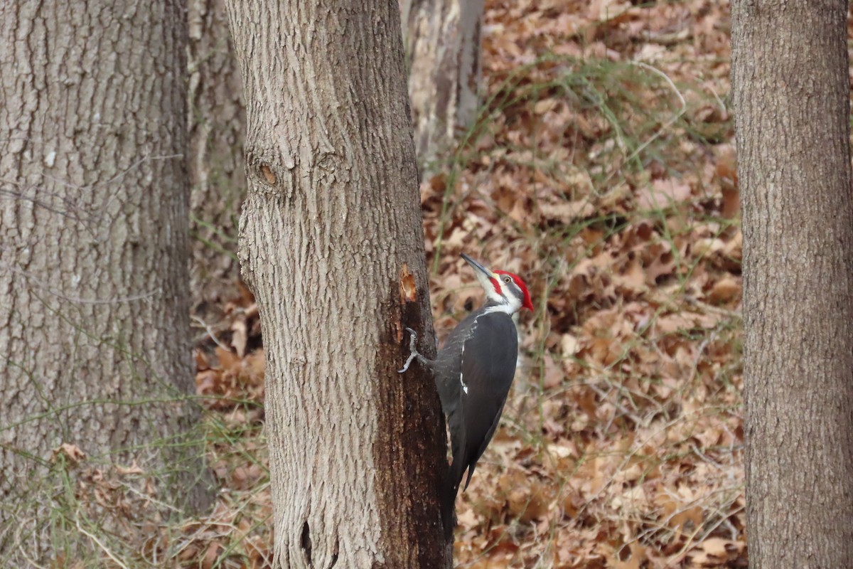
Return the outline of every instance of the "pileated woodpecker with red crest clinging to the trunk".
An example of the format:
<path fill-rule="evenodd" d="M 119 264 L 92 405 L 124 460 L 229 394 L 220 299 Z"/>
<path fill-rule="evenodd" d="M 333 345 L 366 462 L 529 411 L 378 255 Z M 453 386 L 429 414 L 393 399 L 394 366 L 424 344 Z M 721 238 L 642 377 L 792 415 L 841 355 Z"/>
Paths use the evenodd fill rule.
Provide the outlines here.
<path fill-rule="evenodd" d="M 533 310 L 531 295 L 519 276 L 488 270 L 465 253 L 462 258 L 473 267 L 485 290 L 485 305 L 459 322 L 434 360 L 417 351 L 417 335 L 406 328 L 411 334 L 411 355 L 400 370 L 402 374 L 409 369 L 415 358 L 432 369 L 441 408 L 448 417 L 453 464 L 441 498 L 448 537 L 452 535 L 454 503 L 462 476 L 467 469 L 467 488 L 477 461 L 495 434 L 513 384 L 519 336 L 512 316 L 522 308 Z"/>

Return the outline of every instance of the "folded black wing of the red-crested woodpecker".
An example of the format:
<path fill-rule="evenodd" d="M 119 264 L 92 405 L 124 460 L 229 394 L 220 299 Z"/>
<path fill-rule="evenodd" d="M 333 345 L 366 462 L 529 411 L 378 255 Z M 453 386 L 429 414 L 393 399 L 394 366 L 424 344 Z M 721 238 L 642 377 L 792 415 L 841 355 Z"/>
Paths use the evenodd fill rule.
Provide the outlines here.
<path fill-rule="evenodd" d="M 513 384 L 518 355 L 518 332 L 508 314 L 492 312 L 478 317 L 461 357 L 461 416 L 457 420 L 461 422 L 462 436 L 453 441 L 451 474 L 455 491 L 466 468 L 467 488 L 477 461 L 495 434 Z"/>

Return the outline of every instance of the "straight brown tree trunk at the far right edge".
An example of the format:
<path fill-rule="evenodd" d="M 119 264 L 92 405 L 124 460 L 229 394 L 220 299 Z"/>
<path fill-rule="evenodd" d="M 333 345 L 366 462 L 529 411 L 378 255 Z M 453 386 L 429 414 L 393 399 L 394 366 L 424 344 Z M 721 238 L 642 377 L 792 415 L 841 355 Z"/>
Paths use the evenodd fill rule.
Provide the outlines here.
<path fill-rule="evenodd" d="M 754 567 L 853 566 L 847 3 L 732 4 Z"/>

